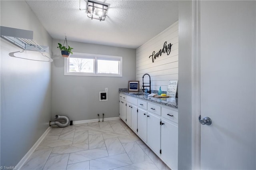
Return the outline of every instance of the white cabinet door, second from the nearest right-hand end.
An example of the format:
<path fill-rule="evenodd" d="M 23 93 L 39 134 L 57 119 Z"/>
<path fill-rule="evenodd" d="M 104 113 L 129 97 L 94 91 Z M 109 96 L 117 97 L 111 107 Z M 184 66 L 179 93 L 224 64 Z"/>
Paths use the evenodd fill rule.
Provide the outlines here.
<path fill-rule="evenodd" d="M 147 143 L 148 146 L 160 155 L 160 118 L 148 113 L 147 115 Z"/>

